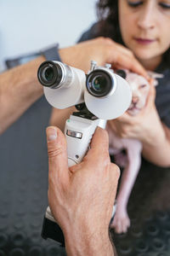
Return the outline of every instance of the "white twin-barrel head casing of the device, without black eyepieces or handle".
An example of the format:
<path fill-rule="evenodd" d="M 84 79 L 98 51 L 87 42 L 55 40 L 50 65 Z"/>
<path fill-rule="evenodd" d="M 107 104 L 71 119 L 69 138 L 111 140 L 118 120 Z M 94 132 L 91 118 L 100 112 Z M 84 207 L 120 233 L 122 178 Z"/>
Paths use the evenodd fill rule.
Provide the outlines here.
<path fill-rule="evenodd" d="M 59 61 L 54 61 L 63 68 L 65 72 L 65 65 Z M 116 119 L 121 116 L 132 102 L 132 91 L 125 79 L 122 79 L 113 70 L 107 67 L 94 67 L 94 70 L 103 70 L 110 74 L 113 81 L 113 90 L 108 96 L 96 97 L 92 96 L 86 88 L 85 73 L 75 67 L 71 68 L 70 83 L 64 83 L 57 89 L 44 87 L 44 95 L 47 101 L 54 108 L 69 108 L 85 102 L 88 110 L 94 113 L 99 119 Z"/>

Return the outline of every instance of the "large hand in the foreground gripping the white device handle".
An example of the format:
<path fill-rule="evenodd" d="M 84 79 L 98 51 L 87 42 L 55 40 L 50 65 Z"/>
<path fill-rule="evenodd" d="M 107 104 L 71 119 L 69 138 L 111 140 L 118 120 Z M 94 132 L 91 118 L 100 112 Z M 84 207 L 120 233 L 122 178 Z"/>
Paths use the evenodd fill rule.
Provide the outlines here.
<path fill-rule="evenodd" d="M 111 164 L 106 131 L 97 128 L 88 154 L 80 164 L 70 168 L 63 133 L 51 126 L 47 129 L 47 137 L 48 202 L 64 232 L 68 255 L 77 255 L 72 251 L 74 244 L 82 252 L 78 255 L 104 255 L 105 247 L 110 247 L 113 255 L 112 247 L 108 245 L 111 244 L 108 228 L 119 168 Z M 87 252 L 87 244 L 88 250 L 96 254 Z"/>

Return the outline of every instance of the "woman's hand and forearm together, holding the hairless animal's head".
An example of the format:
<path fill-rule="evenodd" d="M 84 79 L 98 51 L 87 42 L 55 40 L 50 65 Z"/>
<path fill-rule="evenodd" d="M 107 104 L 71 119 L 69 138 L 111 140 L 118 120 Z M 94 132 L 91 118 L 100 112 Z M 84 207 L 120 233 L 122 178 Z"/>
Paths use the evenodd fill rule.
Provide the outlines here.
<path fill-rule="evenodd" d="M 136 116 L 124 113 L 122 117 L 109 121 L 115 133 L 122 138 L 138 139 L 143 143 L 142 154 L 156 166 L 170 166 L 170 129 L 161 123 L 157 113 L 156 90 L 150 84 L 150 93 L 145 107 Z"/>

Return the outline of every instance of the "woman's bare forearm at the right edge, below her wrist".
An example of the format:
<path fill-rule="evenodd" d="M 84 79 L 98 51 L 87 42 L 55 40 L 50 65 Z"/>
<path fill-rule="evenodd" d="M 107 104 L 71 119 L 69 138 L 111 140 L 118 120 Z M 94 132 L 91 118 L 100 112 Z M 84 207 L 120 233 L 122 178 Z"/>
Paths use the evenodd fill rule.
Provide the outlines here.
<path fill-rule="evenodd" d="M 161 124 L 160 132 L 143 143 L 143 156 L 156 166 L 170 166 L 170 130 Z"/>

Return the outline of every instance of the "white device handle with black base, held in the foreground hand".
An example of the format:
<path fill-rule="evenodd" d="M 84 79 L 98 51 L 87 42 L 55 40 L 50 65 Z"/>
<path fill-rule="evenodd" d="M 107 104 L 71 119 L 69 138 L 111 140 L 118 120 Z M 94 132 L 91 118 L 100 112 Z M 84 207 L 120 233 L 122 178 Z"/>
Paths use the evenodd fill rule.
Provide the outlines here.
<path fill-rule="evenodd" d="M 71 115 L 65 122 L 65 137 L 67 142 L 68 166 L 80 163 L 87 153 L 91 139 L 97 126 L 105 128 L 106 121 L 102 119 L 84 119 Z M 42 237 L 51 238 L 65 246 L 65 237 L 56 223 L 48 207 L 43 219 Z"/>

